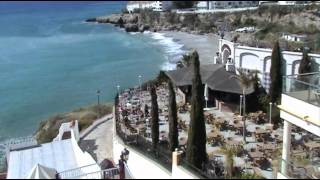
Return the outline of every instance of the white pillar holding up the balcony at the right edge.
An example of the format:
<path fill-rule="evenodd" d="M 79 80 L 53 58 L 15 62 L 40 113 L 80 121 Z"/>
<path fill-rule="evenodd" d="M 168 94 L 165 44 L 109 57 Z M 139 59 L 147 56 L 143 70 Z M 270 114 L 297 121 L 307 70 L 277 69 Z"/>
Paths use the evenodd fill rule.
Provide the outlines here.
<path fill-rule="evenodd" d="M 281 161 L 281 173 L 286 175 L 289 168 L 291 152 L 291 123 L 284 121 L 283 127 L 283 147 L 282 147 L 282 161 Z"/>

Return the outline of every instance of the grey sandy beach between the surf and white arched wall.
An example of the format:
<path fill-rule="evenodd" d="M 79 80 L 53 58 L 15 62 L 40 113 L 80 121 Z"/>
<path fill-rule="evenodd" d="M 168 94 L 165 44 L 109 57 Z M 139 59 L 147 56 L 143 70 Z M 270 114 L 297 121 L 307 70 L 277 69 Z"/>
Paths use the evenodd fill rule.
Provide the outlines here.
<path fill-rule="evenodd" d="M 172 37 L 178 43 L 184 45 L 188 50 L 195 49 L 199 53 L 202 64 L 214 63 L 214 56 L 218 52 L 219 36 L 216 34 L 197 35 L 186 32 L 162 31 L 166 37 Z M 226 35 L 226 39 L 230 39 Z"/>

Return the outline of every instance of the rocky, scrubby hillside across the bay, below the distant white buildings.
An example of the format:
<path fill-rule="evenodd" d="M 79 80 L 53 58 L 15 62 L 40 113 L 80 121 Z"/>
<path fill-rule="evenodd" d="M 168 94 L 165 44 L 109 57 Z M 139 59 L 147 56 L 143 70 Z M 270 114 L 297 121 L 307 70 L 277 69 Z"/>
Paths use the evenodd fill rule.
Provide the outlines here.
<path fill-rule="evenodd" d="M 238 42 L 252 46 L 272 47 L 280 33 L 307 34 L 307 45 L 313 51 L 320 50 L 319 5 L 306 6 L 261 6 L 256 10 L 242 12 L 219 12 L 214 14 L 177 14 L 174 12 L 153 12 L 140 10 L 133 14 L 114 14 L 89 19 L 100 23 L 112 23 L 126 31 L 183 31 L 195 34 L 234 31 L 245 26 L 259 29 L 254 34 L 240 34 Z M 302 46 L 287 43 L 288 50 Z M 283 46 L 284 47 L 284 46 Z"/>

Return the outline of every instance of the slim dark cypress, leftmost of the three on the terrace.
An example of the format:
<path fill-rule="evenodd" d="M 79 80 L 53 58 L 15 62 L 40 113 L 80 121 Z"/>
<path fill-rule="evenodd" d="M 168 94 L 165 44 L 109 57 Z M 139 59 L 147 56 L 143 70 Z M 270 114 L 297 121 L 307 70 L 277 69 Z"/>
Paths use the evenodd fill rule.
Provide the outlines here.
<path fill-rule="evenodd" d="M 150 89 L 151 94 L 151 136 L 152 148 L 157 149 L 159 143 L 159 108 L 157 102 L 157 93 L 154 85 Z"/>

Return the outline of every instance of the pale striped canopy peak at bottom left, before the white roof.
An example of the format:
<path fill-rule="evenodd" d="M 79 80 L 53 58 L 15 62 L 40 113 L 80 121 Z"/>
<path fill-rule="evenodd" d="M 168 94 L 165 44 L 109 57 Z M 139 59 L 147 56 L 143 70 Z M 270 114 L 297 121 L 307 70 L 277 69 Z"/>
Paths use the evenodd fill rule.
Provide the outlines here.
<path fill-rule="evenodd" d="M 57 171 L 52 168 L 35 165 L 26 179 L 56 179 Z"/>

